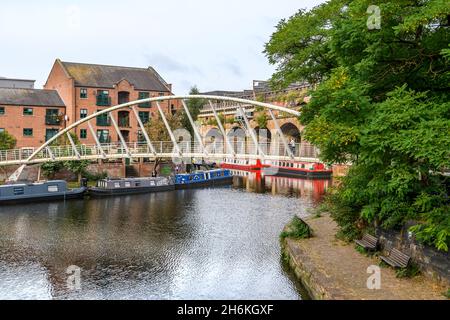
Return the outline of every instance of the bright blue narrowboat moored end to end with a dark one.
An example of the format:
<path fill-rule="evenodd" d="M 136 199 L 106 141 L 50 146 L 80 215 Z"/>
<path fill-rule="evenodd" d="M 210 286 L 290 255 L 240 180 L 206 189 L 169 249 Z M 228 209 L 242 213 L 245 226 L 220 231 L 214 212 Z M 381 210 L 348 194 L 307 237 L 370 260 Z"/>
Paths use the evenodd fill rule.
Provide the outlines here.
<path fill-rule="evenodd" d="M 214 187 L 232 183 L 233 175 L 227 169 L 194 171 L 175 175 L 175 189 Z"/>

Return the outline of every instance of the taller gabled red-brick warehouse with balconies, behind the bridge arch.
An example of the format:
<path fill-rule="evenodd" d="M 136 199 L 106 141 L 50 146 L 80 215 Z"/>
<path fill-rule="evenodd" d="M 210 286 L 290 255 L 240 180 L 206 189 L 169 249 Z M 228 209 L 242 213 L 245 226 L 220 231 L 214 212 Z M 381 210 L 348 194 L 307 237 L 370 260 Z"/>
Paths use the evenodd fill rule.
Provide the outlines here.
<path fill-rule="evenodd" d="M 110 106 L 148 97 L 169 96 L 171 85 L 152 68 L 132 68 L 85 63 L 64 62 L 56 59 L 46 89 L 56 90 L 66 105 L 67 125 Z M 145 123 L 158 116 L 156 104 L 145 103 L 136 106 Z M 173 113 L 178 102 L 164 101 L 161 107 Z M 140 130 L 132 110 L 112 113 L 126 141 L 137 141 Z M 117 142 L 119 137 L 108 117 L 97 117 L 91 124 L 100 142 Z M 81 143 L 94 144 L 95 140 L 87 124 L 76 128 Z"/>

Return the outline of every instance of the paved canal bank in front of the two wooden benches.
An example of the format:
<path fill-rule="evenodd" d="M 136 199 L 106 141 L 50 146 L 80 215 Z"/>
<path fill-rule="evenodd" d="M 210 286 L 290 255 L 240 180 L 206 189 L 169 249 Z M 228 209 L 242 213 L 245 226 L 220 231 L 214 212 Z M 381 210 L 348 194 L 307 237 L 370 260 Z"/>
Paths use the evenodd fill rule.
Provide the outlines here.
<path fill-rule="evenodd" d="M 337 225 L 329 215 L 305 219 L 313 230 L 309 239 L 282 240 L 282 253 L 313 299 L 408 300 L 445 299 L 447 288 L 417 276 L 397 278 L 392 268 L 381 268 L 380 289 L 368 289 L 369 266 L 379 265 L 353 244 L 336 239 Z"/>

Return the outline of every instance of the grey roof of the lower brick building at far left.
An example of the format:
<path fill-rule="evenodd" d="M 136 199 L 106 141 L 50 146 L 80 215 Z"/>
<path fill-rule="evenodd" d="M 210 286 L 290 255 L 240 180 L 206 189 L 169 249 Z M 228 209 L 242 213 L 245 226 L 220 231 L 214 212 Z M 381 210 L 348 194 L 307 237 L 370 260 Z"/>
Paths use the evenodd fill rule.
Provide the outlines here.
<path fill-rule="evenodd" d="M 0 105 L 65 107 L 56 90 L 0 88 Z"/>

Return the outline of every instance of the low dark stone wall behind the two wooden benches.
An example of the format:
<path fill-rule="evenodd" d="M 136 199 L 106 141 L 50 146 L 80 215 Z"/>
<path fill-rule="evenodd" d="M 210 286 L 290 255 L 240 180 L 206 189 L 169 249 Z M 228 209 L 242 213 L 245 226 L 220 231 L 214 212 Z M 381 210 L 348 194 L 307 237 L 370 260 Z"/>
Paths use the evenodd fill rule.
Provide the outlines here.
<path fill-rule="evenodd" d="M 401 231 L 384 230 L 378 228 L 376 233 L 380 237 L 380 244 L 384 254 L 391 248 L 396 248 L 410 255 L 422 273 L 438 280 L 444 285 L 450 285 L 450 257 L 448 252 L 438 251 L 423 245 L 414 239 L 408 229 L 413 223 L 408 223 Z"/>

